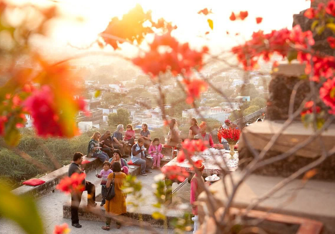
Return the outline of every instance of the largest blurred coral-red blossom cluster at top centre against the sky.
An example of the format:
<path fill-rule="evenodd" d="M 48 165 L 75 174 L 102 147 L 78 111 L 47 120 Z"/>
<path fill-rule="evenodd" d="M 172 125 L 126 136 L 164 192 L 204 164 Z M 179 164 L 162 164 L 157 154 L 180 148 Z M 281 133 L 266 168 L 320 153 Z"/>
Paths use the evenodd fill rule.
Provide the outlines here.
<path fill-rule="evenodd" d="M 170 50 L 160 51 L 166 48 Z M 203 47 L 200 52 L 191 50 L 188 43 L 180 44 L 170 33 L 165 33 L 156 35 L 150 44 L 150 51 L 134 58 L 132 62 L 152 77 L 169 70 L 174 76 L 181 73 L 190 76 L 192 68 L 202 68 L 203 57 L 207 52 L 208 47 Z"/>

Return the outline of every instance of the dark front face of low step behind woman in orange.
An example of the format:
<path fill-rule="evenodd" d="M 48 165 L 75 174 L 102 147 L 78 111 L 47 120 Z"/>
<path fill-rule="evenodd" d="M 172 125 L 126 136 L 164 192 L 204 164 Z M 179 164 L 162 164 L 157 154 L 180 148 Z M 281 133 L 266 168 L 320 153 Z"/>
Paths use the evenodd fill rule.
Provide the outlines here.
<path fill-rule="evenodd" d="M 98 222 L 106 222 L 105 213 L 106 210 L 104 207 L 100 207 L 100 202 L 96 202 L 97 206 L 92 208 L 92 211 L 87 210 L 86 205 L 87 201 L 82 199 L 81 203 L 79 205 L 78 210 L 78 217 L 79 220 L 90 220 L 90 221 L 98 221 Z M 131 218 L 132 220 L 142 220 L 144 222 L 143 225 L 149 225 L 152 227 L 164 227 L 164 221 L 163 220 L 155 220 L 152 218 L 151 213 L 138 213 L 138 212 L 131 212 L 127 211 L 125 214 L 126 217 Z M 167 227 L 173 228 L 171 221 L 176 218 L 177 216 L 170 216 L 167 215 Z M 67 202 L 65 205 L 63 205 L 63 218 L 71 218 L 71 202 Z M 112 221 L 113 222 L 113 221 Z"/>

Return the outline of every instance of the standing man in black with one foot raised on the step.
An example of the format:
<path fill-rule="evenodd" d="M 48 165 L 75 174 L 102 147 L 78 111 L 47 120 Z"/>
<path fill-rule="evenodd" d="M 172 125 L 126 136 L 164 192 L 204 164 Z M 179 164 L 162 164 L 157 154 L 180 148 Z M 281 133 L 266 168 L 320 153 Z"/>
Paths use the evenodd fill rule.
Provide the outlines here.
<path fill-rule="evenodd" d="M 73 162 L 69 166 L 68 175 L 71 177 L 73 173 L 85 173 L 81 170 L 81 162 L 83 161 L 83 154 L 76 152 L 73 155 Z M 94 207 L 95 203 L 95 186 L 91 182 L 83 179 L 82 184 L 85 186 L 85 190 L 87 191 L 87 206 Z M 81 228 L 79 224 L 78 218 L 78 208 L 81 201 L 82 192 L 72 192 L 71 193 L 71 222 L 72 226 L 76 228 Z"/>

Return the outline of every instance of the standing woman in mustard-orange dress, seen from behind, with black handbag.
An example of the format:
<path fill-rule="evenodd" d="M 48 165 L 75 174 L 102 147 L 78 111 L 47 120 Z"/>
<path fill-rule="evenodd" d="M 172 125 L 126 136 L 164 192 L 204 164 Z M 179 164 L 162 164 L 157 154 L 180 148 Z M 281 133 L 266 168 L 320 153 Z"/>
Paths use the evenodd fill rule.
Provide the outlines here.
<path fill-rule="evenodd" d="M 123 181 L 127 175 L 121 172 L 121 164 L 119 162 L 114 162 L 112 165 L 112 170 L 114 173 L 110 173 L 107 177 L 106 187 L 111 186 L 114 178 L 115 186 L 115 197 L 110 201 L 106 200 L 105 209 L 108 215 L 118 216 L 127 212 L 126 208 L 126 194 L 122 191 Z M 106 226 L 101 227 L 104 230 L 109 230 L 111 224 L 111 218 L 107 217 Z M 116 228 L 120 228 L 121 223 L 116 222 Z"/>

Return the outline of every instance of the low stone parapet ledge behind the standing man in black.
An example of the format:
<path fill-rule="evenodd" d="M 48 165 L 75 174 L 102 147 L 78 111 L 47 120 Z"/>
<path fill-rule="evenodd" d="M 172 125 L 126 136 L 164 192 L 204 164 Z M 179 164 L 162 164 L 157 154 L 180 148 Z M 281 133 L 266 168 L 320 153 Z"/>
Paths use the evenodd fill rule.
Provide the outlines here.
<path fill-rule="evenodd" d="M 88 158 L 84 156 L 83 159 L 90 161 L 90 163 L 85 164 L 86 173 L 102 165 L 102 162 L 97 158 Z M 64 176 L 67 176 L 69 166 L 70 164 L 63 166 L 49 174 L 46 174 L 40 177 L 40 179 L 46 181 L 44 184 L 41 184 L 39 186 L 22 185 L 18 188 L 13 189 L 12 192 L 14 192 L 17 195 L 25 194 L 25 195 L 32 196 L 34 198 L 43 197 L 47 195 L 48 193 L 53 192 L 56 188 L 56 185 L 60 182 L 60 180 Z"/>

